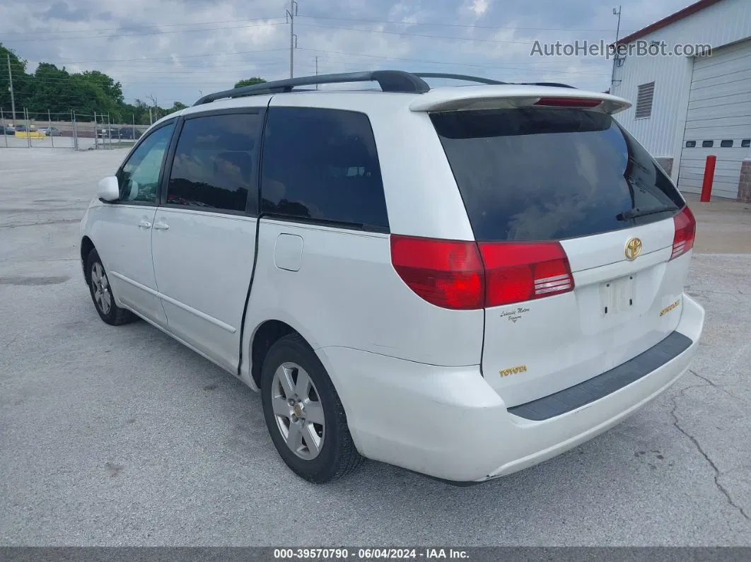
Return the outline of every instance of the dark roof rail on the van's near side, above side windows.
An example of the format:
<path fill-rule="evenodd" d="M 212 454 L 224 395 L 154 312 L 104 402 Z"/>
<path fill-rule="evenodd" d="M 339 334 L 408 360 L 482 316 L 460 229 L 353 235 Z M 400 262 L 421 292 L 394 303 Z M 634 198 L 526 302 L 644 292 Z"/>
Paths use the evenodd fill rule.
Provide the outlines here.
<path fill-rule="evenodd" d="M 204 95 L 203 98 L 193 104 L 208 104 L 223 98 L 243 98 L 249 95 L 280 94 L 291 92 L 296 86 L 314 86 L 315 84 L 336 84 L 348 82 L 377 82 L 384 92 L 404 92 L 410 94 L 423 94 L 430 91 L 430 86 L 415 74 L 405 71 L 372 71 L 372 72 L 347 72 L 342 74 L 319 74 L 300 78 L 288 78 L 287 80 L 274 80 L 241 86 Z"/>

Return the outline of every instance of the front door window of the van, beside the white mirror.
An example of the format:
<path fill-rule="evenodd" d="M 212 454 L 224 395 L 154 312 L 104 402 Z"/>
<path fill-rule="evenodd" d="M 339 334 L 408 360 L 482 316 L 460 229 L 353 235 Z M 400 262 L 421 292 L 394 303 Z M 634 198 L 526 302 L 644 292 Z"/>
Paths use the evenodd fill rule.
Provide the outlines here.
<path fill-rule="evenodd" d="M 149 134 L 119 173 L 120 201 L 155 203 L 164 152 L 170 146 L 174 122 Z"/>

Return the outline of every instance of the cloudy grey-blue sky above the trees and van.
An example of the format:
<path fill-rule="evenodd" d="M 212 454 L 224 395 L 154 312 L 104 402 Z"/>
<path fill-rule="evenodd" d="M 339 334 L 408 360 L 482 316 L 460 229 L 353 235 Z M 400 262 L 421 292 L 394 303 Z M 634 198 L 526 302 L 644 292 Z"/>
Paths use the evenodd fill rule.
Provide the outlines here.
<path fill-rule="evenodd" d="M 618 0 L 615 0 L 618 2 Z M 620 37 L 691 4 L 620 0 Z M 611 62 L 531 56 L 540 44 L 616 37 L 608 0 L 298 0 L 294 75 L 377 69 L 563 82 L 605 91 Z M 29 62 L 98 70 L 125 101 L 192 104 L 237 80 L 289 76 L 288 0 L 21 0 L 0 41 Z M 0 63 L 2 64 L 2 63 Z"/>

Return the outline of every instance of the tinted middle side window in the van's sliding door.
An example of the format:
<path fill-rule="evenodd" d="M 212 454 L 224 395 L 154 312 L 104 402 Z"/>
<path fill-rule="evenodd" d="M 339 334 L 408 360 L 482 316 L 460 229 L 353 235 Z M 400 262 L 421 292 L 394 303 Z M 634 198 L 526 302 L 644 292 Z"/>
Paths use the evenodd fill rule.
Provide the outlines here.
<path fill-rule="evenodd" d="M 186 119 L 167 185 L 167 203 L 245 211 L 252 189 L 258 113 Z"/>

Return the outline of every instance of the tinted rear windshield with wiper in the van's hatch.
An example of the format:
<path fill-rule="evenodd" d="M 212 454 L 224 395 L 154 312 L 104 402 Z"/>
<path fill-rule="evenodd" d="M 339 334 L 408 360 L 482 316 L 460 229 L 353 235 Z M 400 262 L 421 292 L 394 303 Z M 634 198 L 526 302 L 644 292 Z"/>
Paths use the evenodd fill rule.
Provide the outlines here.
<path fill-rule="evenodd" d="M 478 240 L 557 240 L 661 221 L 683 206 L 611 116 L 481 110 L 430 116 Z M 666 212 L 623 220 L 632 209 Z"/>

